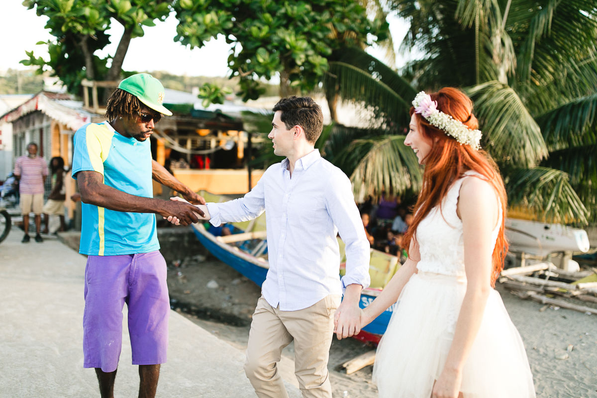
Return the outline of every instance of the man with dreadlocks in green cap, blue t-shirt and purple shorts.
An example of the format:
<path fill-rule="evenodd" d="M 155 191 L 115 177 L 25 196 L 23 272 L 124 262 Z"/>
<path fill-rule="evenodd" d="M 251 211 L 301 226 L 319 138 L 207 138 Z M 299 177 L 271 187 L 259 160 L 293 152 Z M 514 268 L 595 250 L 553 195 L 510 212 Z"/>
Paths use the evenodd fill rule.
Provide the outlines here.
<path fill-rule="evenodd" d="M 152 160 L 149 138 L 162 115 L 158 79 L 124 79 L 107 101 L 106 121 L 75 134 L 72 176 L 82 200 L 81 246 L 85 268 L 84 367 L 95 368 L 102 398 L 113 397 L 122 346 L 122 308 L 128 306 L 139 397 L 154 397 L 166 362 L 170 300 L 166 263 L 159 252 L 155 214 L 198 221 L 198 209 L 153 198 L 152 177 L 192 203 L 205 200 Z"/>

